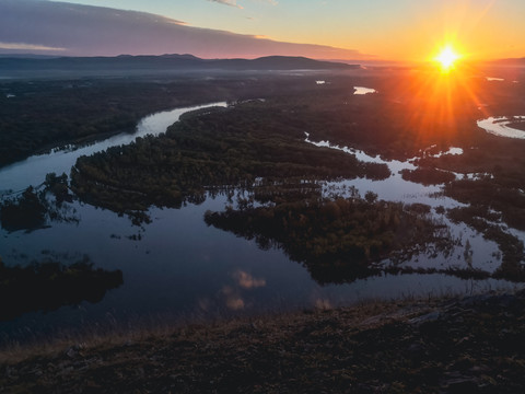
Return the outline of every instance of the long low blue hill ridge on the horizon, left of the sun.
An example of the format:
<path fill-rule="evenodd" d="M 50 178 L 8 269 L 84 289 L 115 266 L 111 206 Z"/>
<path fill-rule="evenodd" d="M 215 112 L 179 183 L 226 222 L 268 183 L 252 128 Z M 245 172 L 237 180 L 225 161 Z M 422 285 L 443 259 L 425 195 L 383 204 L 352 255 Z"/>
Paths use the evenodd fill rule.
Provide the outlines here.
<path fill-rule="evenodd" d="M 117 57 L 0 57 L 0 77 L 27 73 L 149 73 L 173 71 L 284 71 L 351 70 L 357 65 L 319 61 L 305 57 L 268 56 L 257 59 L 201 59 L 192 55 Z"/>

